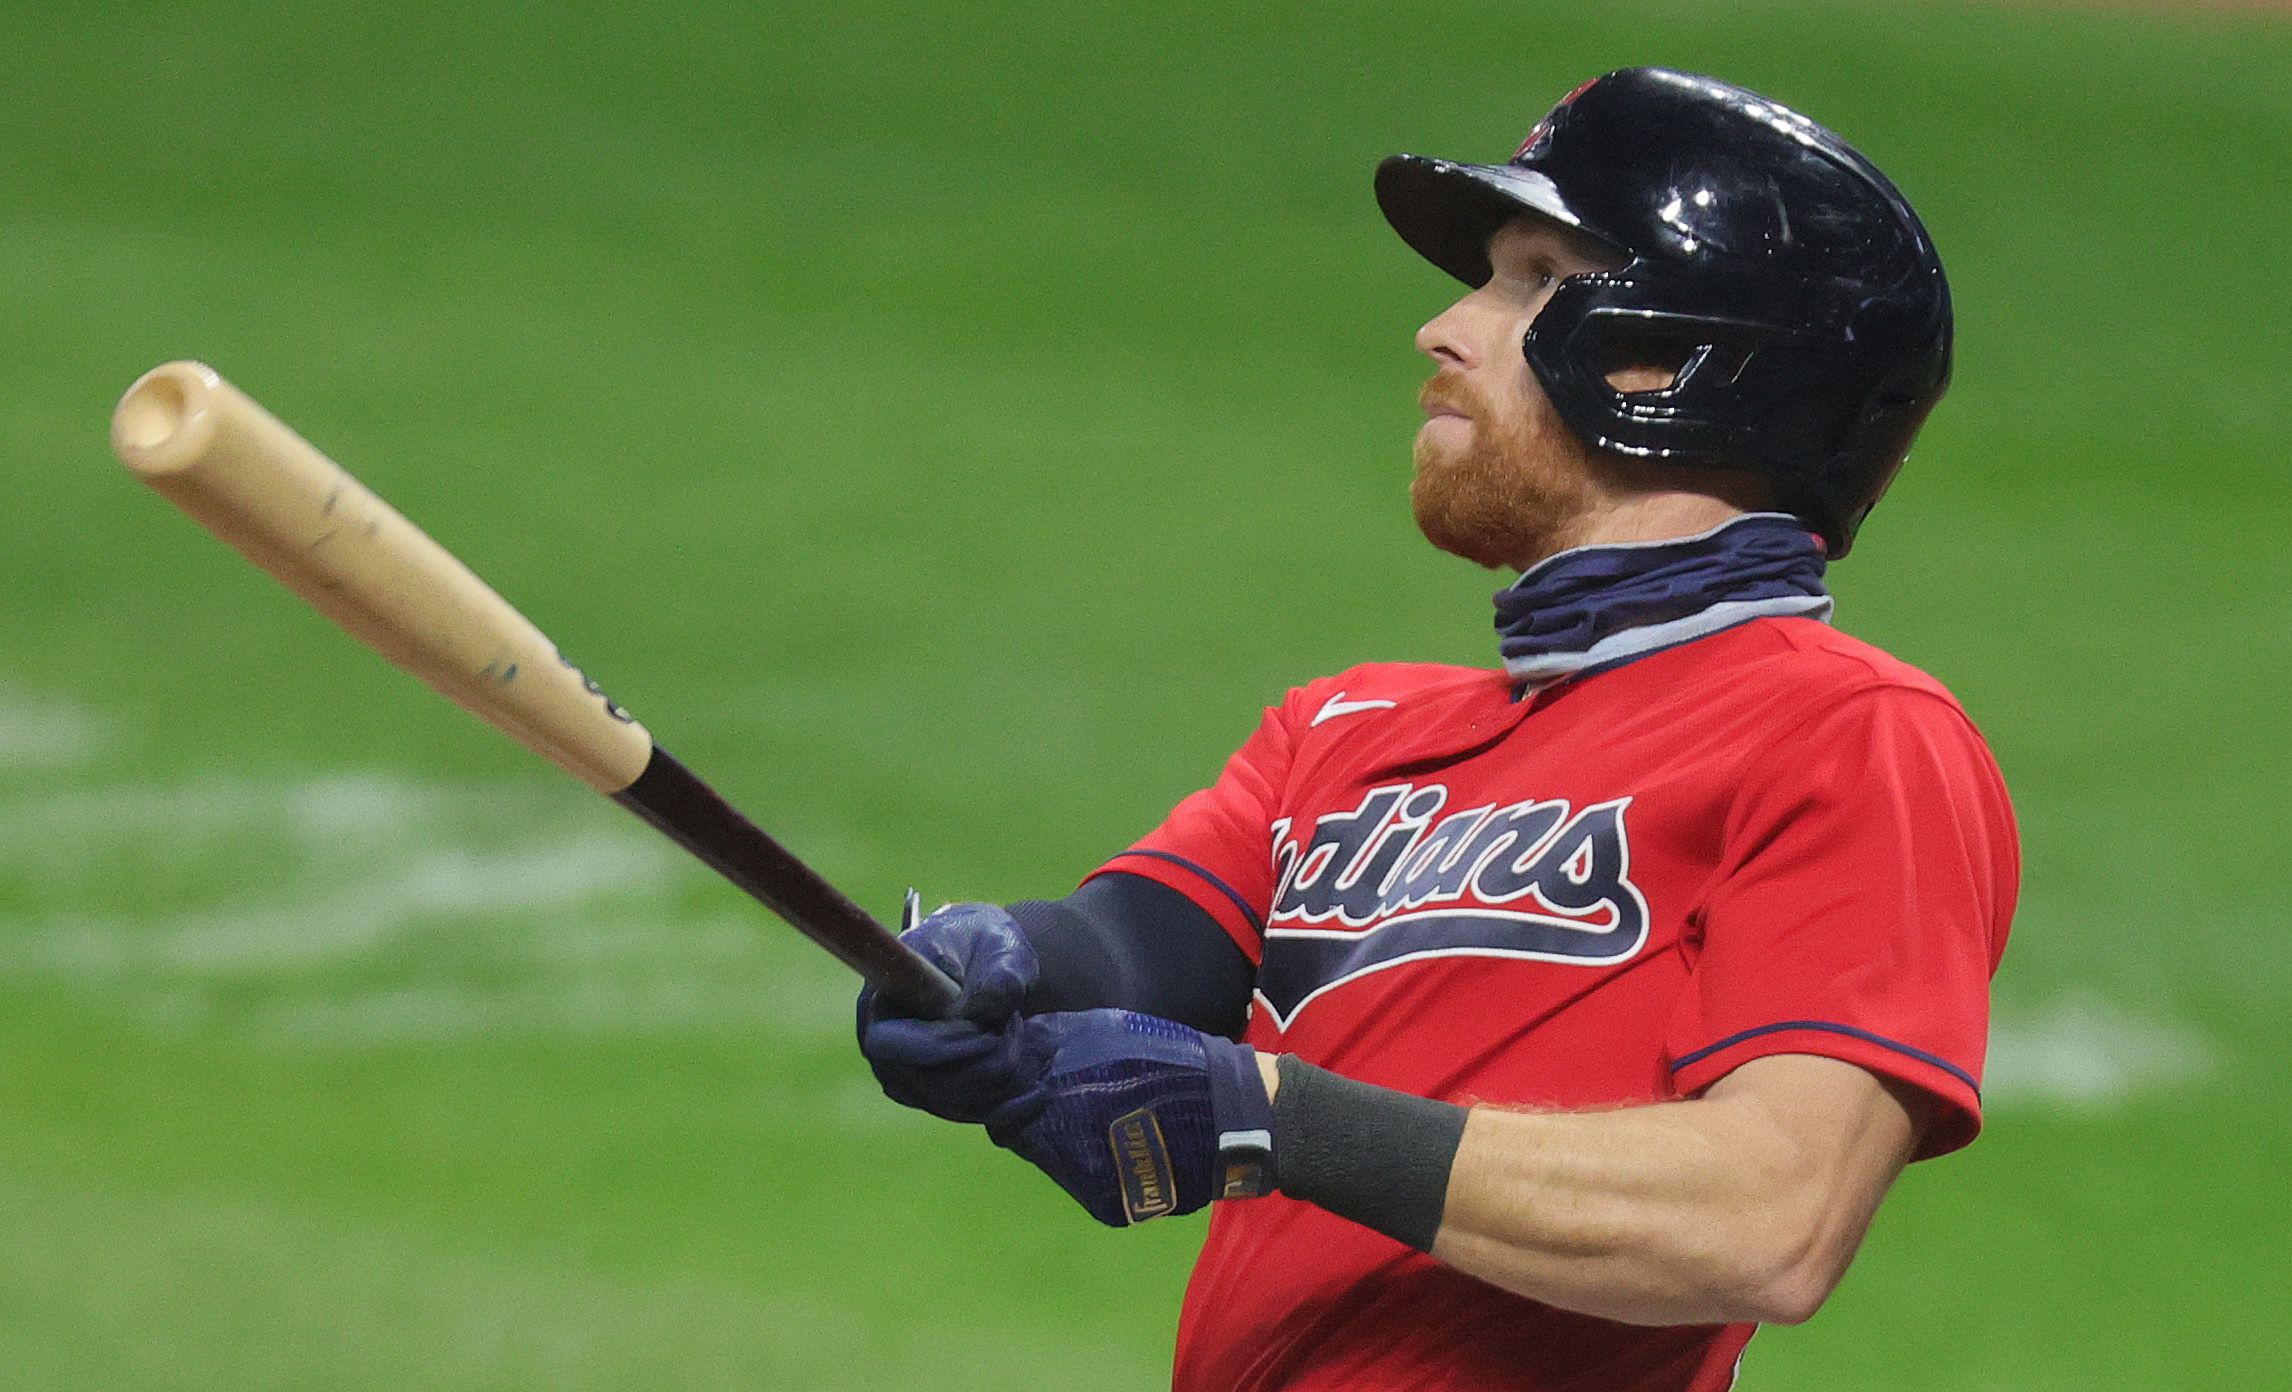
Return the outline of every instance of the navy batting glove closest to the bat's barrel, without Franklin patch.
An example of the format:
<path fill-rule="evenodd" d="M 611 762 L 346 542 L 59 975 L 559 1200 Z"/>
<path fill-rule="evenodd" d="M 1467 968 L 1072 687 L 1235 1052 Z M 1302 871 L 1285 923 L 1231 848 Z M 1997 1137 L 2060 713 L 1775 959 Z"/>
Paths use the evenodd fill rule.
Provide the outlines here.
<path fill-rule="evenodd" d="M 992 904 L 956 904 L 898 936 L 963 986 L 947 1020 L 924 1020 L 876 986 L 859 991 L 859 1053 L 892 1101 L 986 1121 L 1041 1076 L 1041 1059 L 1013 1027 L 1034 988 L 1027 936 Z"/>

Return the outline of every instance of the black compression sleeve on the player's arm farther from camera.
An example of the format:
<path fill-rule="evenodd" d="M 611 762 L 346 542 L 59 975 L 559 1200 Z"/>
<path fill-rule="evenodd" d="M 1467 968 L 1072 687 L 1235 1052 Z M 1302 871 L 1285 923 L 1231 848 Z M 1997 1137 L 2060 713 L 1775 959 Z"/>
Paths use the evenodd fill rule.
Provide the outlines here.
<path fill-rule="evenodd" d="M 1146 876 L 1109 871 L 1066 899 L 1027 899 L 1011 917 L 1043 972 L 1027 1014 L 1121 1007 L 1235 1037 L 1256 968 L 1192 899 Z"/>

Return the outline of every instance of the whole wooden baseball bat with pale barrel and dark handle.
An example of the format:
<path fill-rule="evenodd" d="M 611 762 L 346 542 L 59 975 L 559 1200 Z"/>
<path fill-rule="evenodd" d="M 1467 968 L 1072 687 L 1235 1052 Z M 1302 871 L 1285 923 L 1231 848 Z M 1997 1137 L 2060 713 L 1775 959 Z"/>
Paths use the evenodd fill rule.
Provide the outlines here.
<path fill-rule="evenodd" d="M 862 977 L 947 1014 L 956 984 L 678 764 L 541 628 L 204 362 L 142 374 L 112 454 L 160 498 L 463 711 L 628 807 Z"/>

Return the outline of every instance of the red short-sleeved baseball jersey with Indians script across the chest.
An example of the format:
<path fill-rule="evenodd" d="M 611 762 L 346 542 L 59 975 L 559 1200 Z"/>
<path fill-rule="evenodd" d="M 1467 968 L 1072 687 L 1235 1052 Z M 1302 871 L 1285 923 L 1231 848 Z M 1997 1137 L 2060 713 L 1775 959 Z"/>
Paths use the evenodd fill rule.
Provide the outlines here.
<path fill-rule="evenodd" d="M 1247 1043 L 1453 1103 L 1694 1096 L 1847 1059 L 1980 1128 L 2012 810 L 1934 679 L 1756 619 L 1513 699 L 1368 665 L 1265 711 L 1105 869 L 1258 963 Z M 1286 1197 L 1217 1204 L 1178 1392 L 1719 1392 L 1753 1325 L 1639 1328 L 1499 1291 Z"/>

